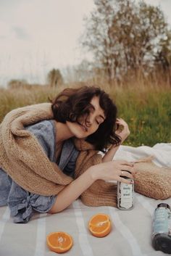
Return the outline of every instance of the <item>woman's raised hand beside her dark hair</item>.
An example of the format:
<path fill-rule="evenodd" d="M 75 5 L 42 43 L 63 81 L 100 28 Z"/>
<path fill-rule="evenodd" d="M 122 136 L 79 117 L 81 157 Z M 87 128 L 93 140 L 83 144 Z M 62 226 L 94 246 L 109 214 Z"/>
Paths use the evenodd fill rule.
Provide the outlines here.
<path fill-rule="evenodd" d="M 117 118 L 116 121 L 117 124 L 117 130 L 115 133 L 120 136 L 121 138 L 121 143 L 127 139 L 127 137 L 130 135 L 130 130 L 128 128 L 128 123 L 125 122 L 122 118 Z"/>

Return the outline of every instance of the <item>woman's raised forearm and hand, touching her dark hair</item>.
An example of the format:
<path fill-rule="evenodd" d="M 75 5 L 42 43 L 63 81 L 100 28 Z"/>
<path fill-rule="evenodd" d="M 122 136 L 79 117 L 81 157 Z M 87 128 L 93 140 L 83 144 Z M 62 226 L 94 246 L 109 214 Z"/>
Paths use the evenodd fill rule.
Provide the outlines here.
<path fill-rule="evenodd" d="M 125 141 L 125 139 L 130 135 L 130 130 L 128 128 L 128 124 L 122 119 L 117 118 L 117 125 L 118 129 L 115 131 L 115 133 L 120 136 L 121 143 Z M 117 149 L 119 149 L 120 145 L 113 145 L 107 152 L 107 154 L 103 157 L 103 162 L 109 162 L 113 160 L 114 154 L 116 154 Z"/>

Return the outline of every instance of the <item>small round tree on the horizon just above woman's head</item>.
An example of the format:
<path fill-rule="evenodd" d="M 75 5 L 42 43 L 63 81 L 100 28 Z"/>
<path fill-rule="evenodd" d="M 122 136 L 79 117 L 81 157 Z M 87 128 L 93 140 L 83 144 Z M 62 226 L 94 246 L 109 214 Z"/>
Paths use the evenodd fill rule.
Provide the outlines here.
<path fill-rule="evenodd" d="M 50 70 L 48 73 L 48 82 L 49 86 L 51 87 L 57 87 L 63 83 L 62 74 L 60 73 L 60 70 Z"/>

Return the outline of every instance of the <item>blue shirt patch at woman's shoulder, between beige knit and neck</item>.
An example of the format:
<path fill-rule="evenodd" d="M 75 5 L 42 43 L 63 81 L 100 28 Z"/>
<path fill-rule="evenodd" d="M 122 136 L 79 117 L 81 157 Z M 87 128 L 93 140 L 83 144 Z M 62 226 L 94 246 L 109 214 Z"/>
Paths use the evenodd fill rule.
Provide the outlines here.
<path fill-rule="evenodd" d="M 43 120 L 26 127 L 30 133 L 36 136 L 49 160 L 55 162 L 55 131 L 51 120 Z"/>

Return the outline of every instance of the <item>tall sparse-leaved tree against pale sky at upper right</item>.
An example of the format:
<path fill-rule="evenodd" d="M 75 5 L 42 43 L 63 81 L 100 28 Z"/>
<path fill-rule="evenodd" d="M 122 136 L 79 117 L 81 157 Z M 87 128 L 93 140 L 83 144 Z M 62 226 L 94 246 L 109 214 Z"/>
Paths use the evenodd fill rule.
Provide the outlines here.
<path fill-rule="evenodd" d="M 80 41 L 93 52 L 109 83 L 130 70 L 149 70 L 169 31 L 162 10 L 143 0 L 138 4 L 133 0 L 94 0 L 94 4 Z"/>

